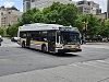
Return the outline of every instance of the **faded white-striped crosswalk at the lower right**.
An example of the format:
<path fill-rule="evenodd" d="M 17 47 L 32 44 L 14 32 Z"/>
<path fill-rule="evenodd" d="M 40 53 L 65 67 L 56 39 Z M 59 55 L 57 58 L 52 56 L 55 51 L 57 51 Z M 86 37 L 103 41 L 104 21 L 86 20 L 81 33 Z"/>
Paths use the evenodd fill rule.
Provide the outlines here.
<path fill-rule="evenodd" d="M 93 61 L 85 61 L 85 62 L 75 62 L 70 66 L 76 66 L 84 69 L 94 69 L 94 70 L 107 70 L 109 71 L 109 58 L 104 60 L 93 60 Z M 108 72 L 109 73 L 109 72 Z"/>

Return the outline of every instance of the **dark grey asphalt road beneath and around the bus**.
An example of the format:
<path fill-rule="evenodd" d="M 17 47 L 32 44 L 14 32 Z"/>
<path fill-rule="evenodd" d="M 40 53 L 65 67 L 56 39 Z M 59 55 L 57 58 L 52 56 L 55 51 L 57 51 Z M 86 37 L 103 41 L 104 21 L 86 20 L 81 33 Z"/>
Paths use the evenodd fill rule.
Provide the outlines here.
<path fill-rule="evenodd" d="M 97 45 L 107 46 L 107 44 Z M 16 43 L 3 38 L 2 45 L 0 46 L 0 77 L 65 66 L 74 62 L 109 58 L 109 49 L 96 48 L 96 44 L 90 45 L 92 47 L 89 45 L 83 45 L 82 52 L 52 55 L 22 48 Z"/>

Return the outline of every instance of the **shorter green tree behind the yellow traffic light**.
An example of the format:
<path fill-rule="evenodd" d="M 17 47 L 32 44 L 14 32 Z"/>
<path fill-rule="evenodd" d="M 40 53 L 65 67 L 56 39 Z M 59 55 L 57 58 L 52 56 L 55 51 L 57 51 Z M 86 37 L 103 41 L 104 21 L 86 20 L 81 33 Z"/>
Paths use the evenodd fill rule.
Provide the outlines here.
<path fill-rule="evenodd" d="M 88 36 L 95 36 L 98 34 L 99 27 L 100 27 L 100 23 L 98 21 L 98 19 L 96 16 L 94 16 L 93 14 L 90 15 L 78 15 L 78 24 L 80 26 L 85 30 L 85 22 L 87 22 L 87 31 L 86 34 Z M 77 24 L 77 25 L 78 25 Z"/>

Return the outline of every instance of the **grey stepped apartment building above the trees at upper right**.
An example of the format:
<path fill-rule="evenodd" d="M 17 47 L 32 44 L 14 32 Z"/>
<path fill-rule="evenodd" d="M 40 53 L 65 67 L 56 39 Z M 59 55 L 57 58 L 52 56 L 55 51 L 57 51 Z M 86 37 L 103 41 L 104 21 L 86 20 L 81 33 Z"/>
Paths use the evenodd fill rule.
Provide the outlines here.
<path fill-rule="evenodd" d="M 100 14 L 101 9 L 99 8 L 98 3 L 94 1 L 82 0 L 76 2 L 78 8 L 78 14 Z"/>

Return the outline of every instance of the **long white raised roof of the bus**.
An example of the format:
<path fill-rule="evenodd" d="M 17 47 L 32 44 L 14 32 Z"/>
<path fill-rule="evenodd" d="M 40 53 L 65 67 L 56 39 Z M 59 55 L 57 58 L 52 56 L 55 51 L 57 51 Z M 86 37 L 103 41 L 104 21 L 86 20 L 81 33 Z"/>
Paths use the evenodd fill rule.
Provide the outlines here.
<path fill-rule="evenodd" d="M 63 26 L 60 24 L 44 24 L 44 23 L 34 23 L 34 24 L 25 24 L 19 27 L 19 31 L 49 31 L 49 30 L 59 30 L 71 26 Z M 77 27 L 73 27 L 75 30 Z"/>

